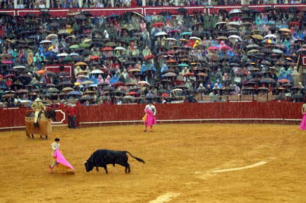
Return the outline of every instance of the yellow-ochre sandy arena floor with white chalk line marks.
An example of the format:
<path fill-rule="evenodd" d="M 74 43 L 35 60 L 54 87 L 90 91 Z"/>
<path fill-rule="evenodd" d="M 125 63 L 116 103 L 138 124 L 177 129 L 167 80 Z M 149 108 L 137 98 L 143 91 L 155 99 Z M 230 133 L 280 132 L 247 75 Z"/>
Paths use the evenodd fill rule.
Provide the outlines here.
<path fill-rule="evenodd" d="M 0 202 L 306 202 L 306 131 L 298 125 L 161 124 L 70 130 L 50 140 L 0 132 Z M 55 169 L 50 144 L 61 138 L 75 174 Z M 98 148 L 128 150 L 131 173 L 80 165 Z M 220 170 L 231 169 L 231 171 Z M 219 171 L 218 171 L 219 170 Z"/>

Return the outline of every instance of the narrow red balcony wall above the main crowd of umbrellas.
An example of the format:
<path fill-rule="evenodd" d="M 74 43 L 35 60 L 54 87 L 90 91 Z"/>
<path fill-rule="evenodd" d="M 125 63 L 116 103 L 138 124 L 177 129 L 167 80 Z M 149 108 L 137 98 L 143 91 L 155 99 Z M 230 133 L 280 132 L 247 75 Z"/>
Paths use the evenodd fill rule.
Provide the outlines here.
<path fill-rule="evenodd" d="M 189 14 L 193 14 L 193 11 L 202 11 L 204 13 L 217 13 L 219 9 L 224 9 L 227 11 L 231 11 L 232 9 L 235 8 L 241 8 L 243 6 L 248 6 L 251 9 L 258 10 L 259 12 L 262 12 L 265 8 L 268 7 L 274 7 L 274 8 L 283 8 L 283 9 L 288 9 L 290 7 L 297 7 L 299 10 L 302 10 L 304 7 L 306 7 L 306 4 L 264 4 L 264 5 L 226 5 L 226 6 L 214 6 L 213 8 L 205 8 L 204 6 L 184 6 L 188 10 Z M 172 15 L 176 15 L 177 13 L 177 8 L 182 8 L 179 6 L 161 6 L 161 7 L 133 7 L 133 8 L 79 8 L 79 11 L 89 11 L 93 16 L 97 15 L 98 17 L 101 15 L 104 16 L 109 16 L 111 14 L 118 14 L 121 15 L 127 11 L 131 12 L 138 12 L 141 13 L 142 15 L 146 15 L 147 13 L 152 14 L 153 12 L 156 12 L 159 14 L 162 11 L 168 11 Z M 75 9 L 73 9 L 75 11 Z M 12 15 L 20 15 L 24 16 L 27 13 L 33 13 L 35 15 L 39 15 L 40 10 L 39 9 L 9 9 L 9 10 L 1 10 L 1 12 L 7 12 Z M 66 17 L 67 13 L 69 12 L 69 9 L 49 9 L 49 14 L 51 16 L 56 16 L 56 17 Z"/>

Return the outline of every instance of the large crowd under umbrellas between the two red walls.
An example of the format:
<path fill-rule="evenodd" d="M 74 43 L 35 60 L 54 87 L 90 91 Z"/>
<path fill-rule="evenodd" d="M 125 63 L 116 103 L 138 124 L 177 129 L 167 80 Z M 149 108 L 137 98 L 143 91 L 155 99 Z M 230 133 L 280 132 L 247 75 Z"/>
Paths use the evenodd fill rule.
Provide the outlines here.
<path fill-rule="evenodd" d="M 306 53 L 303 12 L 177 11 L 61 19 L 1 13 L 1 105 L 37 97 L 84 104 L 193 102 L 199 94 L 303 99 L 303 84 L 293 82 L 298 54 Z M 46 71 L 48 64 L 60 68 Z M 72 64 L 72 77 L 63 64 Z"/>

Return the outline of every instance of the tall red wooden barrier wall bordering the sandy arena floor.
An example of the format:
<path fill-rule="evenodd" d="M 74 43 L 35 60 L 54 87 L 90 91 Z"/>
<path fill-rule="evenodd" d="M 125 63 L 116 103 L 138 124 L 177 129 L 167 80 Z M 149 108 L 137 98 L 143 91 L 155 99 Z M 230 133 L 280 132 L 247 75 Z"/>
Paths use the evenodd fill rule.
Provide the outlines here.
<path fill-rule="evenodd" d="M 156 104 L 157 120 L 167 121 L 247 121 L 299 123 L 303 103 L 251 102 L 251 103 L 184 103 Z M 144 115 L 144 105 L 111 105 L 77 107 L 77 123 L 81 126 L 99 123 L 139 122 Z M 58 109 L 57 123 L 67 125 L 67 109 Z M 0 109 L 0 130 L 23 128 L 25 108 Z M 64 119 L 65 116 L 65 119 Z"/>

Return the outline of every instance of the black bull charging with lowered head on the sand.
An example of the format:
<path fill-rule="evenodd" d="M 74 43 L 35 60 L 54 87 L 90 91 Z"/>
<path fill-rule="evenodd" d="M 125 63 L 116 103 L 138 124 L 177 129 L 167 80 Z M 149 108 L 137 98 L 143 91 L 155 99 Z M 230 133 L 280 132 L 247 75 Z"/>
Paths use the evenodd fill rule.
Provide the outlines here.
<path fill-rule="evenodd" d="M 104 167 L 106 173 L 108 173 L 107 170 L 107 164 L 119 164 L 121 166 L 125 167 L 125 173 L 126 170 L 129 169 L 128 172 L 131 172 L 130 164 L 127 163 L 127 155 L 126 153 L 130 154 L 129 151 L 113 151 L 108 149 L 98 149 L 94 151 L 94 153 L 89 157 L 89 159 L 84 162 L 86 171 L 91 171 L 94 167 L 96 167 L 96 170 L 98 171 L 98 167 Z M 131 155 L 133 157 L 133 155 Z M 144 161 L 140 158 L 133 157 L 139 162 L 144 163 Z"/>

